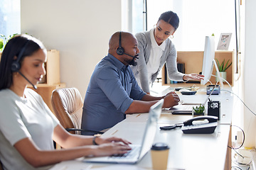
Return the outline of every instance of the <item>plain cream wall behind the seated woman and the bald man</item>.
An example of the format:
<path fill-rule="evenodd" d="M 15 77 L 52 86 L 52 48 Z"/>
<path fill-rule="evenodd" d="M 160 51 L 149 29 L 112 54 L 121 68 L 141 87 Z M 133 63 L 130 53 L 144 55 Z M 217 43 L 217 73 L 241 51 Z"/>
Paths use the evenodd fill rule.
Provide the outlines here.
<path fill-rule="evenodd" d="M 95 64 L 121 30 L 120 0 L 22 0 L 21 33 L 60 51 L 60 81 L 85 96 Z"/>

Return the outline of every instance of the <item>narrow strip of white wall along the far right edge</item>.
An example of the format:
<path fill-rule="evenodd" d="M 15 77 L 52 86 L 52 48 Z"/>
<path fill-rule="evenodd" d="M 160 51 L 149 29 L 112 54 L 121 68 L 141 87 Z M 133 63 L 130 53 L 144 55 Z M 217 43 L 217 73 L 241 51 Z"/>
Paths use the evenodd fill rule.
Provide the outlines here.
<path fill-rule="evenodd" d="M 245 3 L 243 1 L 243 3 Z M 256 56 L 255 56 L 255 16 L 256 16 L 256 1 L 247 0 L 245 4 L 245 64 L 244 64 L 244 98 L 247 106 L 256 112 Z M 255 129 L 256 116 L 253 115 L 247 108 L 244 109 L 244 130 L 245 130 L 245 147 L 255 147 Z"/>

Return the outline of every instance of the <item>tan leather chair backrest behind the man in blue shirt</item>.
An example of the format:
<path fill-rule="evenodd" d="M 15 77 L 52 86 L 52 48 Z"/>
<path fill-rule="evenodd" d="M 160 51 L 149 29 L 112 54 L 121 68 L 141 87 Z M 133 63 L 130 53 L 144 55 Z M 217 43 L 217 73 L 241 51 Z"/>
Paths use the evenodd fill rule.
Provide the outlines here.
<path fill-rule="evenodd" d="M 82 120 L 82 96 L 76 88 L 55 89 L 51 103 L 56 118 L 63 128 L 81 128 Z M 71 133 L 80 134 L 79 131 Z"/>

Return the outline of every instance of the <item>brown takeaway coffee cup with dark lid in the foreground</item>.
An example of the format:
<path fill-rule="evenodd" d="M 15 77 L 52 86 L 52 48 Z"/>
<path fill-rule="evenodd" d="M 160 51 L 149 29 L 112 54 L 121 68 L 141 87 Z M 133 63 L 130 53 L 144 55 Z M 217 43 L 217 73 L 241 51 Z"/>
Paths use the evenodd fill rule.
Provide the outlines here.
<path fill-rule="evenodd" d="M 151 147 L 151 160 L 154 170 L 167 169 L 169 147 L 165 143 L 158 142 Z"/>

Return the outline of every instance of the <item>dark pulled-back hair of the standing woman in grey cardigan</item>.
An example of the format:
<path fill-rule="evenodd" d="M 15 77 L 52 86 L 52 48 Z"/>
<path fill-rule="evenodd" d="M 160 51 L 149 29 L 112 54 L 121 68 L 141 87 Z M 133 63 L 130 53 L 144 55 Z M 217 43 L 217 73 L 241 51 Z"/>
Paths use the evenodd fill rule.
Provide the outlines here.
<path fill-rule="evenodd" d="M 171 26 L 173 26 L 175 30 L 178 28 L 179 18 L 178 15 L 173 11 L 166 11 L 162 13 L 161 16 L 159 17 L 159 21 L 160 20 L 163 20 L 166 23 L 171 24 Z"/>

